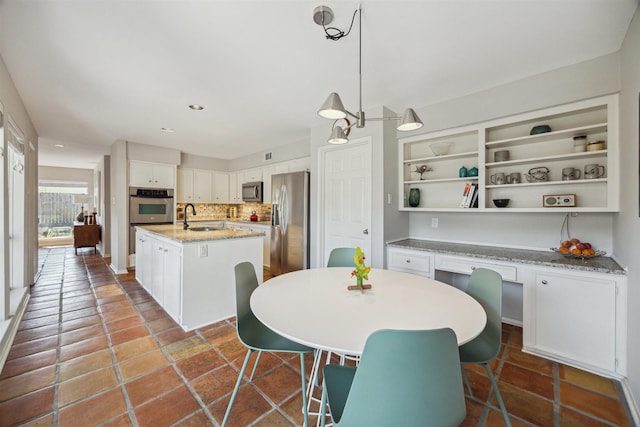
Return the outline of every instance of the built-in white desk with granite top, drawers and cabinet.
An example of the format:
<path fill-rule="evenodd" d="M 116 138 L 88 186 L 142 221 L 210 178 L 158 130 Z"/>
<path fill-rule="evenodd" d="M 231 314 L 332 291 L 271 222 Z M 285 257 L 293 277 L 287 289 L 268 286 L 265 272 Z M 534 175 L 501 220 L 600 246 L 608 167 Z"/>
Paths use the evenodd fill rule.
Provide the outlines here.
<path fill-rule="evenodd" d="M 466 289 L 475 268 L 503 278 L 503 321 L 521 323 L 523 351 L 611 377 L 627 371 L 626 271 L 610 257 L 419 239 L 387 243 L 387 267 Z M 515 318 L 515 315 L 520 319 Z"/>

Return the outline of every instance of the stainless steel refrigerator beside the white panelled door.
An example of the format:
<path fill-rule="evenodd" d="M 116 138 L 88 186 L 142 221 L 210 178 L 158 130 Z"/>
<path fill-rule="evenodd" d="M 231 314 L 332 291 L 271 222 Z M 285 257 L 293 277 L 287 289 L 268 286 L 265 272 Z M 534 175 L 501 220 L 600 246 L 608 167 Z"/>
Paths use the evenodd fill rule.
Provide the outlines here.
<path fill-rule="evenodd" d="M 309 172 L 271 176 L 271 273 L 309 268 Z"/>

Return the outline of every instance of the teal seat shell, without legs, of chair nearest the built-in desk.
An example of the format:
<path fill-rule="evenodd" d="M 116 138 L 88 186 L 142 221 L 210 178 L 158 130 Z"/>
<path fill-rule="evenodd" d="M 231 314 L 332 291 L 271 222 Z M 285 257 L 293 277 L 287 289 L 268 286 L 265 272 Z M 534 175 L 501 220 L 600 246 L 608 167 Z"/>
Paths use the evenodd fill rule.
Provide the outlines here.
<path fill-rule="evenodd" d="M 500 352 L 502 342 L 502 276 L 493 270 L 476 268 L 469 278 L 467 294 L 478 301 L 487 313 L 484 330 L 468 344 L 475 347 L 476 355 L 482 354 L 484 361 L 492 360 Z"/>

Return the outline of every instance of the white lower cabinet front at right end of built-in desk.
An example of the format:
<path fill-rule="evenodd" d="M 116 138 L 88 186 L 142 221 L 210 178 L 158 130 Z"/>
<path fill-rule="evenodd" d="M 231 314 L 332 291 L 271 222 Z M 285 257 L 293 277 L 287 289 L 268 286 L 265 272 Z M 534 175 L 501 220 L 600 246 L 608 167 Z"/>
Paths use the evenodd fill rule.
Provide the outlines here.
<path fill-rule="evenodd" d="M 619 276 L 532 268 L 524 349 L 604 373 L 626 373 L 626 299 Z"/>

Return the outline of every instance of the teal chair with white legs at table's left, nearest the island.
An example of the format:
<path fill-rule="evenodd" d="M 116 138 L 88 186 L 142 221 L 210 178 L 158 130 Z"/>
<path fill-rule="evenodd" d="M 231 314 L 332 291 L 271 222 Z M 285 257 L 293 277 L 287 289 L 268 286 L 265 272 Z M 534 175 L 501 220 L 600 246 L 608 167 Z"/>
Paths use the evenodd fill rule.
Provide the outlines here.
<path fill-rule="evenodd" d="M 250 262 L 242 262 L 235 267 L 235 275 L 236 275 L 236 331 L 238 333 L 238 338 L 247 347 L 247 355 L 244 358 L 244 363 L 242 364 L 242 368 L 240 369 L 240 373 L 238 374 L 238 381 L 236 381 L 236 386 L 233 389 L 233 393 L 231 394 L 231 400 L 229 400 L 229 405 L 227 406 L 227 411 L 224 414 L 224 419 L 222 420 L 222 426 L 225 426 L 228 419 L 229 414 L 231 414 L 231 408 L 233 407 L 233 402 L 236 399 L 236 395 L 238 393 L 238 389 L 240 388 L 240 384 L 242 384 L 242 378 L 244 376 L 244 371 L 247 369 L 247 365 L 249 363 L 249 359 L 251 358 L 251 354 L 254 351 L 258 351 L 260 354 L 263 351 L 269 352 L 283 352 L 283 353 L 298 353 L 300 355 L 300 381 L 302 383 L 302 411 L 304 413 L 304 425 L 309 425 L 309 416 L 307 412 L 307 395 L 306 395 L 306 380 L 305 380 L 305 370 L 304 370 L 304 355 L 306 353 L 312 353 L 314 351 L 313 348 L 307 347 L 302 344 L 298 344 L 293 342 L 276 332 L 269 329 L 264 323 L 256 318 L 256 316 L 251 311 L 251 306 L 249 304 L 249 299 L 251 298 L 251 294 L 258 287 L 258 279 L 256 277 L 255 268 L 253 264 Z M 258 360 L 256 359 L 255 366 L 258 365 Z M 253 373 L 251 374 L 251 378 L 253 378 Z"/>

